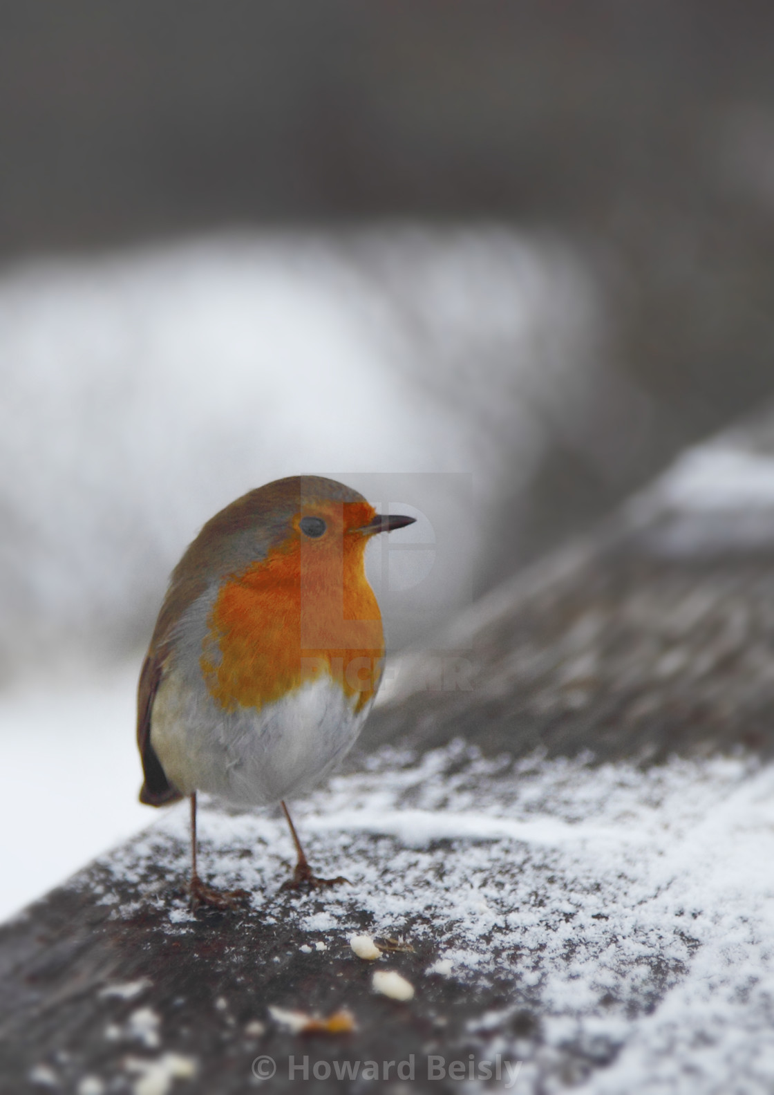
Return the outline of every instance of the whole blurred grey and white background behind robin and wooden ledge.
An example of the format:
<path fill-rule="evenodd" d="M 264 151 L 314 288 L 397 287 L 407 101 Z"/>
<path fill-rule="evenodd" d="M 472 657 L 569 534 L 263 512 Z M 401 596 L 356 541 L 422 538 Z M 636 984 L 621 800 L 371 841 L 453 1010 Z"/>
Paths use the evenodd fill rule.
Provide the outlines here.
<path fill-rule="evenodd" d="M 135 679 L 220 506 L 309 471 L 396 476 L 432 514 L 396 543 L 462 509 L 398 648 L 770 395 L 774 9 L 15 2 L 0 32 L 2 915 L 152 819 Z"/>

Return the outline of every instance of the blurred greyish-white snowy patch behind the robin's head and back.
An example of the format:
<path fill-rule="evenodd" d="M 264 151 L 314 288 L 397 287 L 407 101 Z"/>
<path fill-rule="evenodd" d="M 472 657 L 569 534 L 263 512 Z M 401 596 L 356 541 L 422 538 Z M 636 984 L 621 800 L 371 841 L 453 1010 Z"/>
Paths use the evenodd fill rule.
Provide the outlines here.
<path fill-rule="evenodd" d="M 598 319 L 570 249 L 497 227 L 224 235 L 7 268 L 3 671 L 141 645 L 204 521 L 299 472 L 420 511 L 396 538 L 428 550 L 391 551 L 382 585 L 393 643 L 427 631 L 470 600 L 543 419 L 588 397 Z M 378 552 L 370 566 L 379 579 Z"/>

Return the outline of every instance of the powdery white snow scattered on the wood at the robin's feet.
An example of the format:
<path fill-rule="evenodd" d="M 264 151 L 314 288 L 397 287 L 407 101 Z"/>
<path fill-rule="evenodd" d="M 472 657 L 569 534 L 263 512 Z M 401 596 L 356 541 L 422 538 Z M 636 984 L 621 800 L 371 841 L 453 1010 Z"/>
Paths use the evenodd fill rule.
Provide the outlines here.
<path fill-rule="evenodd" d="M 541 1016 L 540 1037 L 508 1034 L 508 1008 L 499 1018 L 483 1010 L 470 1029 L 488 1058 L 523 1062 L 513 1091 L 527 1095 L 539 1074 L 546 1092 L 562 1090 L 568 1047 L 613 1060 L 588 1093 L 767 1090 L 773 769 L 713 758 L 643 771 L 539 756 L 511 766 L 461 742 L 417 758 L 385 749 L 369 771 L 297 804 L 296 820 L 315 868 L 353 884 L 330 891 L 323 912 L 294 899 L 301 940 L 324 931 L 348 949 L 365 911 L 373 935 L 431 944 L 438 957 L 418 996 L 424 977 L 474 991 L 511 973 L 511 1011 Z M 200 833 L 204 874 L 244 886 L 270 915 L 292 862 L 281 819 L 206 804 Z M 186 837 L 174 807 L 105 865 L 139 879 L 165 862 L 180 878 Z M 171 933 L 185 930 L 176 908 Z"/>

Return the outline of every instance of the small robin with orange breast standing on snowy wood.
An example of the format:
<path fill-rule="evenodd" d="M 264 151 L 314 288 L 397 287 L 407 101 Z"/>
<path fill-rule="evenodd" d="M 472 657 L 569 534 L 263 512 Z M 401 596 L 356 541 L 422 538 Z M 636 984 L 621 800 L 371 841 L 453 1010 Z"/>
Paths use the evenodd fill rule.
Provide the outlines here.
<path fill-rule="evenodd" d="M 199 791 L 281 805 L 298 855 L 286 886 L 346 881 L 313 875 L 286 799 L 328 774 L 360 733 L 384 658 L 366 544 L 413 521 L 377 514 L 334 480 L 296 475 L 216 514 L 172 572 L 140 673 L 140 802 L 189 796 L 194 908 L 244 896 L 198 876 Z"/>

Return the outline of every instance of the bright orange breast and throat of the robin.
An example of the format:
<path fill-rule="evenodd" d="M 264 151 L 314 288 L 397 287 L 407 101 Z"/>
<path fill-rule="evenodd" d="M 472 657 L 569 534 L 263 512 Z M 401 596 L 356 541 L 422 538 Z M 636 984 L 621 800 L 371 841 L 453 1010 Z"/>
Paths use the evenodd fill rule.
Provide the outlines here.
<path fill-rule="evenodd" d="M 373 510 L 360 508 L 365 522 Z M 366 538 L 346 529 L 325 542 L 294 533 L 223 583 L 200 666 L 224 710 L 261 708 L 322 673 L 340 684 L 355 711 L 373 696 L 384 642 L 365 548 Z"/>

